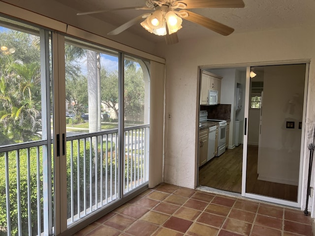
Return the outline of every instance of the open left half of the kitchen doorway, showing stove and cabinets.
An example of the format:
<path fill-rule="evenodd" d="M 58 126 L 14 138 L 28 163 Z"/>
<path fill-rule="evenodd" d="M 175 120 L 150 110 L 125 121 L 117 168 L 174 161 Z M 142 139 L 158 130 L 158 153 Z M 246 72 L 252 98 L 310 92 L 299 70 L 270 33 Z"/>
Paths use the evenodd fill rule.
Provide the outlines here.
<path fill-rule="evenodd" d="M 198 184 L 206 189 L 210 187 L 241 193 L 246 67 L 209 68 L 206 71 L 221 77 L 221 87 L 218 87 L 221 88 L 221 104 L 200 105 L 196 147 Z M 207 78 L 201 77 L 201 80 Z M 201 83 L 200 95 L 203 89 L 208 90 L 212 84 L 211 81 L 204 85 Z M 226 120 L 227 125 L 220 125 L 220 120 Z"/>

